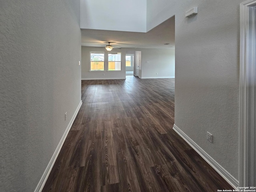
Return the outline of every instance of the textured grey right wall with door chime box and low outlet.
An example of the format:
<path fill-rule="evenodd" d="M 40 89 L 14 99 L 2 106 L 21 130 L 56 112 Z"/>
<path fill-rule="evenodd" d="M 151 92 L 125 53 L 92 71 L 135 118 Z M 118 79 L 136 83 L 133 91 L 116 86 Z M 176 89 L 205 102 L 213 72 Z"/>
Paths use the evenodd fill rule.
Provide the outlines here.
<path fill-rule="evenodd" d="M 238 180 L 239 4 L 147 1 L 147 30 L 175 15 L 175 124 Z M 185 12 L 198 6 L 191 18 Z M 206 132 L 214 142 L 206 140 Z"/>

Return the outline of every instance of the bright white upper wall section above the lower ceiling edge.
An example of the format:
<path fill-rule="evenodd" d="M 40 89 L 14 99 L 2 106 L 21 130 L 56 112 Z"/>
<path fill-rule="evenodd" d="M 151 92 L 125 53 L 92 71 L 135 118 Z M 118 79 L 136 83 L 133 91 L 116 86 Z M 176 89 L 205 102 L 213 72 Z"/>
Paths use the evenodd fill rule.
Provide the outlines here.
<path fill-rule="evenodd" d="M 80 0 L 80 28 L 146 32 L 146 0 Z"/>

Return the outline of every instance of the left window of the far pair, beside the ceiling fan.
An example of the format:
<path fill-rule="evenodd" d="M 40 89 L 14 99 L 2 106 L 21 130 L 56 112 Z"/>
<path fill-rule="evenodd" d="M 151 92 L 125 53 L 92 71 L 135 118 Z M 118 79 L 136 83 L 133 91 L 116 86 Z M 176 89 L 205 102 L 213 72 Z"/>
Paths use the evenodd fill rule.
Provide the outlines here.
<path fill-rule="evenodd" d="M 90 71 L 104 71 L 104 52 L 90 52 Z"/>

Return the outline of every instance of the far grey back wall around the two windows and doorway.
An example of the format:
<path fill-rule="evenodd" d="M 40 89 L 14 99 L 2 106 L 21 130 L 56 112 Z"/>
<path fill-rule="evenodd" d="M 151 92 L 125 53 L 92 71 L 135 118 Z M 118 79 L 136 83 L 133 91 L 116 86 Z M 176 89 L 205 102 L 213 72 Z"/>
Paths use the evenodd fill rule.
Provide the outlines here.
<path fill-rule="evenodd" d="M 90 51 L 104 51 L 108 54 L 105 48 L 84 47 L 82 46 L 82 79 L 125 79 L 125 55 L 126 52 L 141 51 L 142 67 L 140 70 L 141 78 L 160 78 L 173 77 L 175 73 L 175 55 L 174 50 L 159 50 L 159 49 L 130 49 L 122 48 L 113 49 L 114 52 L 122 52 L 122 70 L 121 71 L 100 71 L 90 72 Z M 136 59 L 136 55 L 135 55 Z M 149 61 L 149 63 L 146 63 Z M 105 64 L 105 70 L 107 65 Z M 158 72 L 158 75 L 156 75 Z M 103 76 L 103 74 L 105 74 Z"/>

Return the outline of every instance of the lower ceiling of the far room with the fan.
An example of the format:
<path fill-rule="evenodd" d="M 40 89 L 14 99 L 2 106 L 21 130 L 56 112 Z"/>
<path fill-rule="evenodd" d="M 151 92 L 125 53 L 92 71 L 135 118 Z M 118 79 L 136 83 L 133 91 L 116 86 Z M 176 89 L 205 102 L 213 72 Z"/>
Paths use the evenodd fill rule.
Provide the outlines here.
<path fill-rule="evenodd" d="M 110 45 L 121 48 L 174 49 L 174 36 L 172 17 L 146 33 L 82 29 L 82 46 L 101 47 L 111 42 Z"/>

